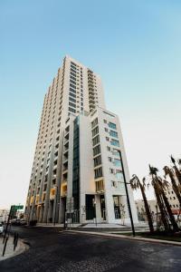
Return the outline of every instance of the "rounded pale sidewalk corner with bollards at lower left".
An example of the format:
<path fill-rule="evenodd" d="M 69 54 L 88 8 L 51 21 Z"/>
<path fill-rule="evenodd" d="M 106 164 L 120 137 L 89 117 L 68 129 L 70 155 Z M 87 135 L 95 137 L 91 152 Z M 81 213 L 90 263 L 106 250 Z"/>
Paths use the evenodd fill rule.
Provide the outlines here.
<path fill-rule="evenodd" d="M 25 249 L 28 247 L 21 241 L 21 239 L 18 240 L 17 247 L 14 250 L 14 245 L 13 245 L 14 238 L 12 236 L 9 236 L 7 245 L 5 248 L 5 256 L 3 257 L 3 249 L 4 245 L 3 244 L 3 236 L 0 237 L 0 261 L 4 260 L 5 258 L 8 257 L 14 257 L 15 255 L 21 254 L 24 252 Z"/>

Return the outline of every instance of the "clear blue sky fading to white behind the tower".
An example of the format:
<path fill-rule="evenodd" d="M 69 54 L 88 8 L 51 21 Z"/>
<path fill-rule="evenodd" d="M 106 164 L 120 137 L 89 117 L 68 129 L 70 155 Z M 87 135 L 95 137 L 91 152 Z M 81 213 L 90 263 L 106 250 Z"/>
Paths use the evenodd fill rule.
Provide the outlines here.
<path fill-rule="evenodd" d="M 99 73 L 130 174 L 181 155 L 181 2 L 0 2 L 0 208 L 24 203 L 43 96 L 65 54 Z"/>

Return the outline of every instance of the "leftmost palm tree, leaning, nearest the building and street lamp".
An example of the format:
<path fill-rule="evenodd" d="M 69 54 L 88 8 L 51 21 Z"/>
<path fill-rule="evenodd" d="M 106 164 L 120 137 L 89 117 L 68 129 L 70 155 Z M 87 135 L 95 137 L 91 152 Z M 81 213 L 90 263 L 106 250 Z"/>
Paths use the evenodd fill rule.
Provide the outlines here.
<path fill-rule="evenodd" d="M 130 186 L 131 186 L 132 189 L 140 189 L 141 190 L 144 205 L 145 205 L 145 210 L 146 210 L 147 217 L 148 217 L 149 230 L 150 230 L 150 232 L 154 232 L 153 221 L 152 221 L 150 209 L 149 209 L 149 206 L 148 206 L 148 199 L 147 199 L 147 196 L 146 196 L 146 193 L 145 193 L 145 188 L 146 188 L 145 180 L 146 179 L 143 178 L 142 183 L 141 183 L 141 181 L 138 179 L 138 176 L 133 175 L 132 179 L 130 180 Z"/>

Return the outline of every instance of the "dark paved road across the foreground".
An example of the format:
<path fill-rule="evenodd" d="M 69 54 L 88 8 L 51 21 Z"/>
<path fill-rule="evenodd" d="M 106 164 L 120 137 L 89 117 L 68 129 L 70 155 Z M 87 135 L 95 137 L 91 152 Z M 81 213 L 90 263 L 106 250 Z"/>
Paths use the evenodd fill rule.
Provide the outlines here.
<path fill-rule="evenodd" d="M 57 228 L 16 230 L 31 247 L 1 261 L 1 272 L 181 271 L 181 247 L 60 232 Z"/>

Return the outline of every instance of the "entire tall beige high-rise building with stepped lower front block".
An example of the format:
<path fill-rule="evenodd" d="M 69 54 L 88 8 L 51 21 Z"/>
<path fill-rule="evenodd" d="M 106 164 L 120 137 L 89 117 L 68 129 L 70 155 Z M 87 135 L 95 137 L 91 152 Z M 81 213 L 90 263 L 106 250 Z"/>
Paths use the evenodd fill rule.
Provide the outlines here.
<path fill-rule="evenodd" d="M 44 97 L 27 219 L 129 221 L 123 168 L 129 182 L 119 118 L 105 109 L 100 76 L 66 56 Z M 137 221 L 130 187 L 129 199 Z"/>

